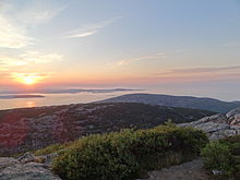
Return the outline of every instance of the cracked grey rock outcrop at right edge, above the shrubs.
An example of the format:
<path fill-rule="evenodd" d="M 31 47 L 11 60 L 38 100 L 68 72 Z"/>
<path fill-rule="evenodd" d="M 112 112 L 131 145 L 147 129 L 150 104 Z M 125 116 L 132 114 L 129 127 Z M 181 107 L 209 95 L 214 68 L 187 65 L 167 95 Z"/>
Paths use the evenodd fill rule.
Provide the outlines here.
<path fill-rule="evenodd" d="M 229 111 L 227 115 L 215 115 L 202 118 L 190 123 L 179 124 L 180 127 L 193 127 L 203 130 L 209 140 L 218 140 L 226 136 L 240 134 L 240 108 Z"/>

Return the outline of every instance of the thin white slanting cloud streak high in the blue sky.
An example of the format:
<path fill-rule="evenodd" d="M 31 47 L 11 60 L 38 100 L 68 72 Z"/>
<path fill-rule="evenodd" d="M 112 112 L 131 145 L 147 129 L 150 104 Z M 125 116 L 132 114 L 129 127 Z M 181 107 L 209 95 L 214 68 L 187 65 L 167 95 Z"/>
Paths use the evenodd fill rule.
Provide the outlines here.
<path fill-rule="evenodd" d="M 80 28 L 68 32 L 64 38 L 82 38 L 82 37 L 94 35 L 98 33 L 101 28 L 117 22 L 122 17 L 117 16 L 117 17 L 113 17 L 113 19 L 110 19 L 110 20 L 107 20 L 100 23 L 83 25 Z"/>

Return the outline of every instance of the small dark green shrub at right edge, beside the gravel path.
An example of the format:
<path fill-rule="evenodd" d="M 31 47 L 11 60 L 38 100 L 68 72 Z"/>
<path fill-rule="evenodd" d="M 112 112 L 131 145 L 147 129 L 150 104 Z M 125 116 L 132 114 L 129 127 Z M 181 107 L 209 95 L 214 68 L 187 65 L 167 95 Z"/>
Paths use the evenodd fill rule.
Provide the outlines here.
<path fill-rule="evenodd" d="M 207 144 L 201 155 L 208 170 L 219 170 L 231 177 L 240 171 L 240 135 L 229 136 Z"/>

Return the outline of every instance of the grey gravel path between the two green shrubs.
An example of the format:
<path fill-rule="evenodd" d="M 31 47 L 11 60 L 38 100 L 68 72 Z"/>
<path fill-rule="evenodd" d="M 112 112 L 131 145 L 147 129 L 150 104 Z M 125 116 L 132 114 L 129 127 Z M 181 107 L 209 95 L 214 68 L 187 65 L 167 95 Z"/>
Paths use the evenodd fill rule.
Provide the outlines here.
<path fill-rule="evenodd" d="M 195 159 L 179 166 L 171 166 L 168 169 L 151 171 L 147 180 L 208 180 L 208 176 L 202 167 L 203 161 Z"/>

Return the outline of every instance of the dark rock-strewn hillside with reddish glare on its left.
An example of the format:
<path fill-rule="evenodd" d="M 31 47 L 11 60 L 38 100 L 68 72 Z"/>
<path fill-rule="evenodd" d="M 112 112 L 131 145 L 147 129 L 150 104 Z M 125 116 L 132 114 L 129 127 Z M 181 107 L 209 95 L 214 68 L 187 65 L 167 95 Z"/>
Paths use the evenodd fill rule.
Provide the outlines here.
<path fill-rule="evenodd" d="M 146 129 L 172 119 L 190 122 L 214 112 L 144 104 L 85 104 L 0 111 L 0 155 L 37 149 L 82 135 Z"/>

